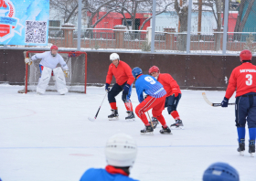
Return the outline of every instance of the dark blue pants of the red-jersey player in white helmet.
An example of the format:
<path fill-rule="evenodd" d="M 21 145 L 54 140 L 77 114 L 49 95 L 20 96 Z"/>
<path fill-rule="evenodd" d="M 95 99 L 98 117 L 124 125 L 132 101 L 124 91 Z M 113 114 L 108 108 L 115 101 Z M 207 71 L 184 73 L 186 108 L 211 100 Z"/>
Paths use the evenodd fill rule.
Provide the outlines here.
<path fill-rule="evenodd" d="M 125 84 L 126 84 L 126 82 L 123 83 L 122 86 L 120 86 L 120 85 L 118 85 L 117 83 L 115 83 L 115 84 L 112 86 L 111 91 L 109 91 L 109 93 L 108 93 L 108 100 L 109 100 L 110 103 L 116 102 L 115 96 L 117 96 L 121 91 L 123 91 L 123 86 L 124 86 Z M 129 90 L 128 94 L 124 94 L 124 93 L 123 93 L 123 95 L 122 95 L 122 100 L 123 100 L 124 103 L 130 101 L 130 97 L 131 97 L 131 94 L 132 94 L 132 89 L 133 89 L 133 83 L 132 83 L 132 85 L 131 85 L 131 87 L 130 87 L 130 90 Z"/>

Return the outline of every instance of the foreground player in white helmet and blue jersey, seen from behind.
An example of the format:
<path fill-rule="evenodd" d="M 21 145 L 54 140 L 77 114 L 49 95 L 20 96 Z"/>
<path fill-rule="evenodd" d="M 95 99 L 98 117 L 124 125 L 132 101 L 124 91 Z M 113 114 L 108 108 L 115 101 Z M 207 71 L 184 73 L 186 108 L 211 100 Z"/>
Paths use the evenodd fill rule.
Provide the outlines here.
<path fill-rule="evenodd" d="M 113 135 L 105 146 L 105 154 L 106 168 L 90 168 L 80 181 L 137 181 L 129 177 L 137 154 L 137 145 L 130 135 Z"/>

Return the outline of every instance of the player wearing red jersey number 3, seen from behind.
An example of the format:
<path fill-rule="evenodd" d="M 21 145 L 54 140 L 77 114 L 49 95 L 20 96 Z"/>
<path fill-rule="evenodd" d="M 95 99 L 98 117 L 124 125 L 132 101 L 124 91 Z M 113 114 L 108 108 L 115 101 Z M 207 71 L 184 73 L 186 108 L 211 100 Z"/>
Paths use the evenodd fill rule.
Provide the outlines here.
<path fill-rule="evenodd" d="M 255 153 L 256 136 L 256 66 L 251 64 L 252 54 L 248 49 L 240 52 L 241 65 L 233 69 L 221 107 L 228 107 L 229 98 L 236 93 L 236 126 L 239 136 L 238 152 L 245 150 L 245 124 L 249 128 L 249 153 Z"/>

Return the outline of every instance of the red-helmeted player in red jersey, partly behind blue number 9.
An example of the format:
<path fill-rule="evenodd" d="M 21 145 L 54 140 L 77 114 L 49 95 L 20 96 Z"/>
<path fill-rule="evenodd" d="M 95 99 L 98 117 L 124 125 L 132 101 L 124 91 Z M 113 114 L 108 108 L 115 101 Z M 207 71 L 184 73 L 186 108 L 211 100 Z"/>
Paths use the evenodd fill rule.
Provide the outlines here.
<path fill-rule="evenodd" d="M 168 73 L 160 73 L 160 69 L 156 66 L 153 66 L 148 70 L 149 74 L 155 77 L 155 80 L 159 81 L 165 88 L 166 99 L 165 99 L 165 107 L 167 107 L 167 111 L 169 114 L 173 116 L 176 123 L 171 124 L 172 129 L 183 129 L 183 122 L 180 120 L 179 114 L 176 111 L 177 104 L 181 98 L 181 91 L 179 89 L 176 80 Z M 157 125 L 157 120 L 153 117 L 153 122 L 155 126 Z"/>

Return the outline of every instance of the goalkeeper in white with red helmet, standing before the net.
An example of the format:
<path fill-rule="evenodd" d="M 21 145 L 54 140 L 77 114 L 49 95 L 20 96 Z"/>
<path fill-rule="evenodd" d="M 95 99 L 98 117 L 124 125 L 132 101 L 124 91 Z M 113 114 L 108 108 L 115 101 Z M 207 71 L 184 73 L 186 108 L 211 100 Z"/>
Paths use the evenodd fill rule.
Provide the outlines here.
<path fill-rule="evenodd" d="M 65 93 L 68 92 L 68 89 L 66 87 L 66 80 L 64 73 L 66 77 L 69 76 L 69 68 L 64 61 L 64 59 L 59 55 L 58 53 L 58 47 L 53 45 L 50 48 L 50 51 L 46 51 L 44 53 L 38 53 L 32 58 L 26 58 L 25 63 L 28 65 L 32 64 L 32 61 L 36 59 L 41 59 L 39 63 L 39 69 L 41 72 L 41 77 L 38 80 L 37 84 L 37 94 L 44 94 L 47 87 L 48 87 L 48 82 L 51 78 L 51 76 L 54 76 L 54 80 L 56 81 L 56 87 L 57 91 L 59 92 L 60 95 L 65 95 Z M 58 67 L 57 65 L 60 64 L 62 69 Z"/>

